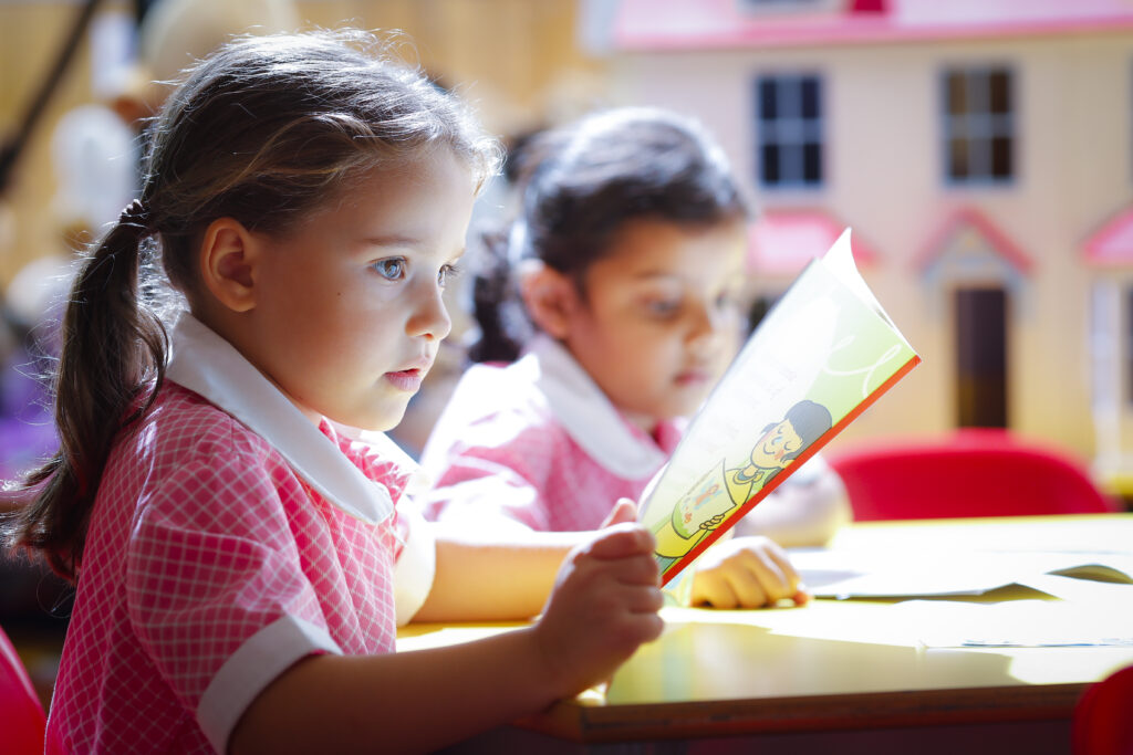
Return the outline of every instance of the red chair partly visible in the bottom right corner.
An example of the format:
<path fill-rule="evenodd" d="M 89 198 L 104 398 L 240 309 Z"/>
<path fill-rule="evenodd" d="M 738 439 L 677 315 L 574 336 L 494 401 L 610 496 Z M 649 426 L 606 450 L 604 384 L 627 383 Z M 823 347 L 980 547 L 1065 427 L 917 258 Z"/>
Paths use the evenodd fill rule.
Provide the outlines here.
<path fill-rule="evenodd" d="M 1074 707 L 1074 755 L 1133 755 L 1133 666 L 1082 693 Z"/>

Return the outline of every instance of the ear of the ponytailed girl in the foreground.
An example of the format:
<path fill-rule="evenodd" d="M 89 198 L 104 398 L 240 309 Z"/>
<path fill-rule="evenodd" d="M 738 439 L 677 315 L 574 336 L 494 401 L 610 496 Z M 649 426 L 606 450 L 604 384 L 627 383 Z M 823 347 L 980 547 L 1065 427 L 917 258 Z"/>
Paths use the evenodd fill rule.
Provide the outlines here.
<path fill-rule="evenodd" d="M 256 306 L 257 249 L 248 229 L 232 217 L 219 217 L 205 229 L 201 277 L 216 300 L 233 312 L 246 312 Z"/>

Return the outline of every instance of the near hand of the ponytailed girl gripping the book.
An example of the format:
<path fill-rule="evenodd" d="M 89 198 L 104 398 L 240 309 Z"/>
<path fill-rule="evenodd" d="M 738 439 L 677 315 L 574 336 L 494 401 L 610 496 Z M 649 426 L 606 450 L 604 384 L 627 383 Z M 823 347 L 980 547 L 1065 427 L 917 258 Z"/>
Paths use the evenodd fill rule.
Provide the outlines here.
<path fill-rule="evenodd" d="M 664 600 L 653 549 L 644 527 L 616 524 L 563 561 L 534 629 L 556 696 L 607 679 L 638 645 L 661 635 Z"/>

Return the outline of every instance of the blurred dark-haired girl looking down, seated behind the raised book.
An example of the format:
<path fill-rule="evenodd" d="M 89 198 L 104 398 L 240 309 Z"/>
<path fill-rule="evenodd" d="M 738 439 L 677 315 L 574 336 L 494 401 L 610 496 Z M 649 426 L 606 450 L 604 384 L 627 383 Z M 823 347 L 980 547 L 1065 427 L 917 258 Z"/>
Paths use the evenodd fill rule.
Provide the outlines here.
<path fill-rule="evenodd" d="M 748 211 L 722 151 L 666 111 L 596 113 L 533 149 L 521 216 L 475 292 L 474 357 L 523 355 L 474 366 L 457 387 L 423 454 L 436 478 L 426 516 L 589 530 L 641 495 L 735 353 Z M 821 460 L 796 479 L 741 532 L 828 539 L 849 512 L 841 482 Z M 740 566 L 698 573 L 695 601 L 796 591 L 773 542 L 710 554 L 701 563 Z"/>

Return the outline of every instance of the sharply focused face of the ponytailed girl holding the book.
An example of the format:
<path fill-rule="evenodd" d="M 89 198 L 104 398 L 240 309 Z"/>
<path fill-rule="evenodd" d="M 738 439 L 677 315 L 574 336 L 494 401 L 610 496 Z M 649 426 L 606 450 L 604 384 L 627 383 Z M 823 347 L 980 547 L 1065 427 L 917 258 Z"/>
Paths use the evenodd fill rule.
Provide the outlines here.
<path fill-rule="evenodd" d="M 265 240 L 241 350 L 313 420 L 393 427 L 449 334 L 441 294 L 474 199 L 448 149 L 370 170 L 292 234 Z"/>

